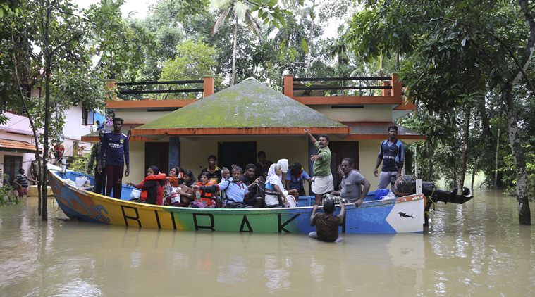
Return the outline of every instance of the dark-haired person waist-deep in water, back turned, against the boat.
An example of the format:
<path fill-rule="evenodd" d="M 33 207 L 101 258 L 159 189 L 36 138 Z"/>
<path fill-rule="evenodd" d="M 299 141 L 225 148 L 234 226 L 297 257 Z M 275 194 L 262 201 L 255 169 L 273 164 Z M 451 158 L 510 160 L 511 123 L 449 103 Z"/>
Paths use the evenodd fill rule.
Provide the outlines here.
<path fill-rule="evenodd" d="M 317 205 L 312 206 L 310 215 L 310 225 L 316 226 L 316 231 L 312 231 L 308 236 L 326 242 L 341 242 L 342 237 L 338 237 L 338 226 L 342 224 L 345 215 L 345 204 L 340 204 L 340 215 L 333 215 L 334 202 L 330 199 L 324 200 L 324 213 L 316 213 Z"/>

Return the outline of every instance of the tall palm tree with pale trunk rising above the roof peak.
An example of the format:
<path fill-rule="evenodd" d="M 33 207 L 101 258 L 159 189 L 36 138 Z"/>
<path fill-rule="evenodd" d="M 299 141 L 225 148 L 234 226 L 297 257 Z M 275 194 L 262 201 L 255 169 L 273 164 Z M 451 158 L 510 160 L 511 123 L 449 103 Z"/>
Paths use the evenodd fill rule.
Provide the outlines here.
<path fill-rule="evenodd" d="M 219 28 L 225 23 L 227 16 L 230 11 L 233 11 L 233 23 L 234 23 L 234 33 L 233 33 L 233 48 L 232 48 L 232 75 L 230 76 L 230 85 L 234 85 L 234 80 L 236 77 L 236 44 L 238 43 L 238 23 L 244 22 L 252 27 L 253 31 L 262 37 L 259 23 L 251 15 L 251 7 L 248 4 L 245 4 L 240 0 L 211 0 L 211 5 L 215 8 L 223 8 L 223 12 L 214 23 L 212 27 L 211 34 L 214 35 L 217 33 Z"/>

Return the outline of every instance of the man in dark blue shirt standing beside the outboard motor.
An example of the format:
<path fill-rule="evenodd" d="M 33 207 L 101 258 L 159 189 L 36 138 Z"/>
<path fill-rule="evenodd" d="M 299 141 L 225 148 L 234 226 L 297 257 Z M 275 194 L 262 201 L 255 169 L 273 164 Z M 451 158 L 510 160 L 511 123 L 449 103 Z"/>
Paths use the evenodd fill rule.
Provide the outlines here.
<path fill-rule="evenodd" d="M 383 162 L 381 168 L 381 175 L 379 175 L 379 184 L 377 189 L 386 189 L 388 183 L 393 184 L 395 179 L 401 175 L 403 168 L 403 161 L 405 160 L 405 148 L 400 140 L 398 140 L 398 126 L 388 126 L 388 139 L 381 142 L 379 148 L 379 155 L 377 156 L 377 163 L 375 165 L 374 175 L 377 177 L 377 168 Z"/>

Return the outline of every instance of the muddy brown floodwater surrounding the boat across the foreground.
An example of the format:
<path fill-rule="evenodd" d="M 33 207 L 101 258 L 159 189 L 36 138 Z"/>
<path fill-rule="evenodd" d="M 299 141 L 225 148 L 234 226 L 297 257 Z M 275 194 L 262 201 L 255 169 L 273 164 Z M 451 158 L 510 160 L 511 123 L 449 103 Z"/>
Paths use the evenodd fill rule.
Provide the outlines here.
<path fill-rule="evenodd" d="M 64 221 L 52 200 L 42 222 L 27 198 L 0 206 L 0 296 L 535 296 L 535 228 L 514 198 L 475 196 L 424 234 L 343 244 Z"/>

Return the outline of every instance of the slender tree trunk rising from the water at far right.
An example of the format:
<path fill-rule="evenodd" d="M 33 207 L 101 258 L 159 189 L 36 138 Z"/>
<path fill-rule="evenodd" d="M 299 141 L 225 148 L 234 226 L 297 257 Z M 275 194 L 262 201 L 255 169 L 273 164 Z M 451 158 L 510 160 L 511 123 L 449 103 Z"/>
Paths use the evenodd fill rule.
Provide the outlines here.
<path fill-rule="evenodd" d="M 529 210 L 529 199 L 527 194 L 527 172 L 526 159 L 517 125 L 517 112 L 515 101 L 512 99 L 512 84 L 507 83 L 502 90 L 502 101 L 505 102 L 508 118 L 508 134 L 511 144 L 512 157 L 515 160 L 515 171 L 517 177 L 517 201 L 518 201 L 518 222 L 520 225 L 531 225 L 531 210 Z"/>

